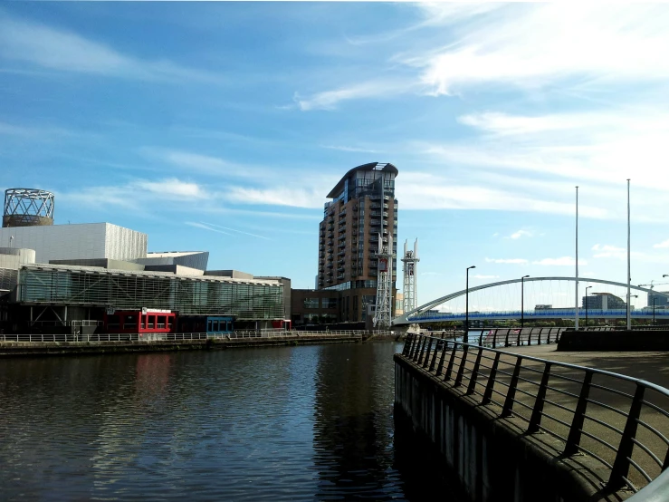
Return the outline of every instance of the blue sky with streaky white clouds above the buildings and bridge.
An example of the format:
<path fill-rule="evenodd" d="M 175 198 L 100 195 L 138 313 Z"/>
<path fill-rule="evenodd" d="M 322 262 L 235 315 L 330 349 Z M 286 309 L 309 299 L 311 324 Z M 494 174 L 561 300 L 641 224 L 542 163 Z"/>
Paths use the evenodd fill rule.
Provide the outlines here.
<path fill-rule="evenodd" d="M 632 282 L 669 290 L 667 25 L 669 5 L 5 3 L 0 188 L 309 288 L 330 188 L 392 162 L 422 304 L 470 265 L 573 275 L 577 185 L 580 275 L 626 282 L 631 179 Z"/>

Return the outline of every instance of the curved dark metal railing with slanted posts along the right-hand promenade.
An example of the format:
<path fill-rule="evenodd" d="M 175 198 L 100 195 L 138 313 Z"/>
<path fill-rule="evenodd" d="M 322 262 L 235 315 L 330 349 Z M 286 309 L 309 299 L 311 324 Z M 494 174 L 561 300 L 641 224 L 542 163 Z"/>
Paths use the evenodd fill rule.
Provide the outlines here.
<path fill-rule="evenodd" d="M 669 467 L 669 390 L 664 387 L 615 372 L 417 334 L 407 337 L 402 354 L 497 416 L 511 418 L 525 432 L 559 439 L 556 456 L 575 459 L 585 454 L 594 459 L 607 472 L 602 481 L 608 490 L 636 492 Z M 664 478 L 652 489 L 669 495 Z M 643 494 L 634 499 L 646 500 Z"/>

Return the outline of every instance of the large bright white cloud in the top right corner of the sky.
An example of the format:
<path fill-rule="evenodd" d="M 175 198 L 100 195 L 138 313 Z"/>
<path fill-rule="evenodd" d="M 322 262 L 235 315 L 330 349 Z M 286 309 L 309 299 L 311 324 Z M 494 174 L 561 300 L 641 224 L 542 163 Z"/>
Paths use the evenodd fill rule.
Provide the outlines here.
<path fill-rule="evenodd" d="M 669 76 L 664 6 L 510 5 L 468 24 L 444 50 L 407 59 L 432 93 L 491 83 L 536 89 L 569 78 L 601 82 Z M 565 36 L 569 34 L 569 36 Z"/>

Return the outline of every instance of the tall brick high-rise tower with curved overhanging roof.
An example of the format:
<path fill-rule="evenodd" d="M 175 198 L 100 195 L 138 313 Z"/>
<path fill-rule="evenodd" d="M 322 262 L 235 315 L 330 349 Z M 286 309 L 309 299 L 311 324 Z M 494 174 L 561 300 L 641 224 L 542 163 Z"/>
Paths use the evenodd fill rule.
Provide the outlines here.
<path fill-rule="evenodd" d="M 319 232 L 317 288 L 339 291 L 339 319 L 365 321 L 377 294 L 379 238 L 392 236 L 392 292 L 397 278 L 397 199 L 392 164 L 350 169 L 332 188 Z M 389 268 L 389 266 L 388 266 Z M 394 302 L 392 303 L 394 304 Z"/>

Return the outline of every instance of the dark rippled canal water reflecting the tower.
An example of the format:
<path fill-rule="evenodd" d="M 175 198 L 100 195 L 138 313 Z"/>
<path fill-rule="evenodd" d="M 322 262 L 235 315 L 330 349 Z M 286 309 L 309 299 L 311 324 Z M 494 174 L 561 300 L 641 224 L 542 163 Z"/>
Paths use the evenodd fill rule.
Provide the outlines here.
<path fill-rule="evenodd" d="M 395 434 L 400 348 L 0 360 L 0 499 L 453 502 Z"/>

